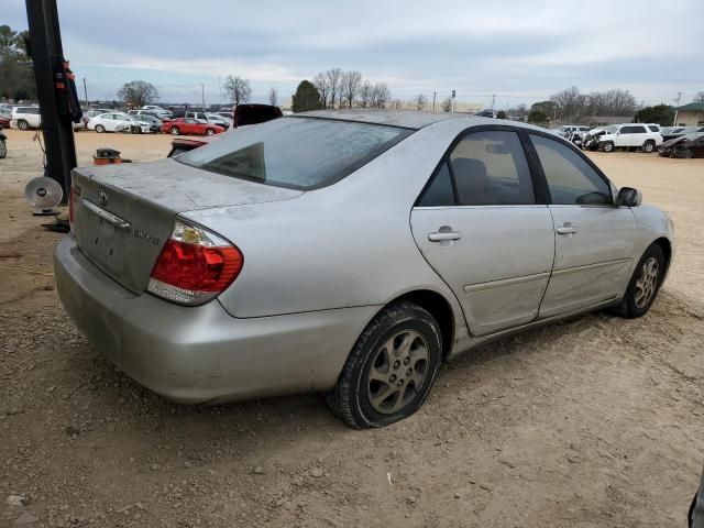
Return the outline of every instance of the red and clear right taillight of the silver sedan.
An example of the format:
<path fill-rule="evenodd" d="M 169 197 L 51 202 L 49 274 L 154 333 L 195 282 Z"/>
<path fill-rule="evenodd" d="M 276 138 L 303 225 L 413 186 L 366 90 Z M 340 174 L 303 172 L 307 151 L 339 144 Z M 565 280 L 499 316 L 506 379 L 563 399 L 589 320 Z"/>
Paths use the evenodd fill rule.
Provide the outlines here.
<path fill-rule="evenodd" d="M 217 234 L 176 220 L 156 260 L 147 292 L 183 305 L 201 305 L 242 271 L 240 250 Z"/>

